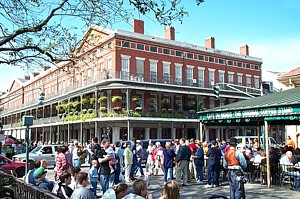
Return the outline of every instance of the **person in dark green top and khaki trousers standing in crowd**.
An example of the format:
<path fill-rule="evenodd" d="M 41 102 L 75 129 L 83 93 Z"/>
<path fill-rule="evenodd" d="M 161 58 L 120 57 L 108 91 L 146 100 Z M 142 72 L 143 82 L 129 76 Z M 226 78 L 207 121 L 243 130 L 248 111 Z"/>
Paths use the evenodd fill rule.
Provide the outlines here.
<path fill-rule="evenodd" d="M 185 144 L 185 139 L 181 138 L 179 140 L 179 150 L 177 153 L 177 171 L 176 171 L 176 180 L 181 179 L 181 175 L 183 176 L 183 186 L 189 185 L 188 180 L 188 161 L 191 157 L 191 150 L 188 148 L 188 146 Z"/>

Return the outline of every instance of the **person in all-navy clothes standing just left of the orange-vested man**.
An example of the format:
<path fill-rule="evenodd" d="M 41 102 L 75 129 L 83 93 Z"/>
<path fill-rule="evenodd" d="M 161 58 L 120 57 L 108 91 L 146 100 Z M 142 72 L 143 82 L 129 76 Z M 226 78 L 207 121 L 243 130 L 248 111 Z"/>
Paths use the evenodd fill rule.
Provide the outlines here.
<path fill-rule="evenodd" d="M 219 186 L 220 160 L 221 149 L 217 147 L 215 140 L 211 141 L 211 147 L 206 153 L 207 159 L 207 185 L 206 188 Z M 213 184 L 211 184 L 211 177 L 213 177 Z"/>

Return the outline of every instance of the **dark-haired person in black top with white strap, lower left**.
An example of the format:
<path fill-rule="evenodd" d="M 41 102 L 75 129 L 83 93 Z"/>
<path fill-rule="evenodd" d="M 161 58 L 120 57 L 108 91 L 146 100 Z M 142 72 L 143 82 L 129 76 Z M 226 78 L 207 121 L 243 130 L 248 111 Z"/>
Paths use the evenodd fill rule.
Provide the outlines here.
<path fill-rule="evenodd" d="M 59 176 L 59 188 L 57 191 L 57 196 L 62 199 L 68 199 L 71 197 L 73 190 L 69 187 L 71 184 L 71 174 L 63 173 Z"/>

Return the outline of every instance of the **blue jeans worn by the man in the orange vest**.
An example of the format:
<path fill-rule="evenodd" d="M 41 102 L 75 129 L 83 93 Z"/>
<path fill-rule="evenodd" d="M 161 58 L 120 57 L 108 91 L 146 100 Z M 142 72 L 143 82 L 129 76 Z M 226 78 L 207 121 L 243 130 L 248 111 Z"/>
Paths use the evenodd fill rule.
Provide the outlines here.
<path fill-rule="evenodd" d="M 228 171 L 228 181 L 230 185 L 230 199 L 240 199 L 243 196 L 244 184 L 237 180 L 237 175 L 229 170 Z"/>

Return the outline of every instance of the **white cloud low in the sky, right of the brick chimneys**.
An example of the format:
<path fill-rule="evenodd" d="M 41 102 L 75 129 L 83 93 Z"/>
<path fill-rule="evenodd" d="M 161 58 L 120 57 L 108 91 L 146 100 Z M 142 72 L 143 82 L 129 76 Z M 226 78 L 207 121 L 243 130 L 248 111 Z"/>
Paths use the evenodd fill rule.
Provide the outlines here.
<path fill-rule="evenodd" d="M 300 39 L 272 39 L 250 46 L 251 56 L 263 60 L 263 68 L 273 71 L 288 71 L 300 66 Z"/>

